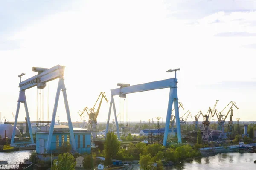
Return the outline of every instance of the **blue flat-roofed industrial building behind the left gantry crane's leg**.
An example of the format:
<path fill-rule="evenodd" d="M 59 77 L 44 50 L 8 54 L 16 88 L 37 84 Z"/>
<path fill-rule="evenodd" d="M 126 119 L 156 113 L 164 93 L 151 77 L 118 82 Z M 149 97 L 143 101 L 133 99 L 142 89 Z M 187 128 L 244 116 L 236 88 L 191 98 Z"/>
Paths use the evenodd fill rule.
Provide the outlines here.
<path fill-rule="evenodd" d="M 69 144 L 70 132 L 69 127 L 65 125 L 54 125 L 54 130 L 52 134 L 52 140 L 49 148 L 48 154 L 46 153 L 48 135 L 49 135 L 50 126 L 46 125 L 41 127 L 41 130 L 36 132 L 36 153 L 40 160 L 49 160 L 52 156 L 58 156 L 59 153 L 67 152 L 71 149 Z M 76 143 L 76 152 L 80 154 L 91 153 L 91 131 L 87 131 L 82 128 L 73 128 L 75 143 Z"/>

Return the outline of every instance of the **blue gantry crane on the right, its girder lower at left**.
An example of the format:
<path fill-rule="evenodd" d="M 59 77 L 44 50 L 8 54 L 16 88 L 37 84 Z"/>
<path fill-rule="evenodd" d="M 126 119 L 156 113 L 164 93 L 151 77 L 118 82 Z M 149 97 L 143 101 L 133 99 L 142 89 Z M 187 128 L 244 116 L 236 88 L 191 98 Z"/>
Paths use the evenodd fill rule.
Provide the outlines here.
<path fill-rule="evenodd" d="M 161 81 L 154 81 L 154 82 L 145 83 L 145 84 L 137 84 L 134 86 L 129 86 L 126 84 L 126 86 L 124 86 L 124 87 L 121 86 L 120 88 L 112 89 L 111 90 L 111 102 L 110 102 L 110 107 L 109 107 L 109 112 L 108 112 L 106 134 L 108 133 L 111 107 L 113 104 L 117 135 L 118 135 L 118 138 L 120 139 L 119 127 L 118 127 L 117 116 L 116 116 L 116 108 L 114 105 L 114 97 L 113 96 L 119 95 L 119 97 L 125 98 L 126 94 L 135 93 L 135 92 L 144 92 L 144 91 L 155 90 L 155 89 L 164 89 L 164 88 L 170 88 L 170 92 L 169 92 L 169 103 L 168 103 L 168 109 L 167 109 L 167 115 L 166 115 L 165 133 L 164 133 L 164 138 L 163 138 L 163 146 L 166 146 L 166 143 L 167 143 L 168 130 L 169 130 L 170 119 L 171 119 L 171 114 L 172 114 L 172 104 L 174 104 L 174 108 L 175 108 L 175 118 L 176 118 L 178 142 L 181 143 L 176 71 L 175 71 L 175 78 L 170 78 L 170 79 L 161 80 Z"/>

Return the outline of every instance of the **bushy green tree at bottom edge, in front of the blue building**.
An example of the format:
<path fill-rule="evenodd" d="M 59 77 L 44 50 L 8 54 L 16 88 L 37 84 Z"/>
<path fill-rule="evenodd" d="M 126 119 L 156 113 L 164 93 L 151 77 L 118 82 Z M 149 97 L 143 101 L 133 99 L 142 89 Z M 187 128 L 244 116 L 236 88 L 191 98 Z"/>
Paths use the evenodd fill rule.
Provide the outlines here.
<path fill-rule="evenodd" d="M 53 161 L 52 170 L 75 170 L 76 161 L 71 153 L 63 153 Z"/>

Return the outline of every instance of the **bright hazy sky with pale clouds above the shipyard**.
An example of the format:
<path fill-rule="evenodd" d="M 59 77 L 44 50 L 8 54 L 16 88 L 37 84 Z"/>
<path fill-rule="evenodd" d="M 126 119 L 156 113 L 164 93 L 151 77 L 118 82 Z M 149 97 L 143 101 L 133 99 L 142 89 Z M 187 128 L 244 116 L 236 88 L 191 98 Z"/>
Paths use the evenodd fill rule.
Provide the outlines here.
<path fill-rule="evenodd" d="M 25 80 L 36 75 L 32 67 L 60 64 L 72 121 L 81 121 L 77 112 L 93 107 L 100 92 L 110 101 L 117 83 L 173 78 L 166 70 L 176 68 L 180 115 L 206 114 L 216 100 L 220 112 L 235 101 L 233 119 L 256 120 L 254 0 L 2 0 L 0 23 L 1 119 L 14 120 L 17 75 L 26 73 Z M 51 119 L 57 84 L 26 90 L 31 121 Z M 169 89 L 115 97 L 118 120 L 165 121 L 168 97 Z M 98 122 L 108 108 L 103 101 Z M 57 116 L 67 121 L 62 94 Z M 18 120 L 24 117 L 21 104 Z"/>

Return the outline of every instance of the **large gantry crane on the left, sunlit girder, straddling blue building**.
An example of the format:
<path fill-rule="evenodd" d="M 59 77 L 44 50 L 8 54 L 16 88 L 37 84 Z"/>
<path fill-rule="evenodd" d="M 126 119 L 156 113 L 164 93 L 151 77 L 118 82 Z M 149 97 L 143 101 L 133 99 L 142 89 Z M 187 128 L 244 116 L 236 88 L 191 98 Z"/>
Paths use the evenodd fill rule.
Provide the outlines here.
<path fill-rule="evenodd" d="M 35 75 L 35 76 L 33 76 L 29 79 L 26 79 L 24 81 L 21 81 L 21 76 L 23 76 L 25 74 L 22 73 L 21 75 L 19 75 L 19 77 L 20 77 L 20 84 L 19 84 L 20 95 L 18 98 L 17 110 L 16 110 L 16 115 L 15 115 L 15 123 L 14 123 L 13 132 L 12 132 L 11 145 L 15 145 L 14 144 L 14 135 L 15 135 L 15 129 L 17 126 L 17 120 L 18 120 L 18 115 L 19 115 L 19 110 L 20 110 L 20 103 L 24 103 L 26 118 L 27 118 L 27 122 L 28 122 L 28 126 L 29 126 L 30 139 L 31 139 L 32 144 L 34 144 L 32 128 L 31 128 L 30 118 L 29 118 L 29 111 L 28 111 L 28 106 L 26 103 L 25 90 L 30 89 L 35 86 L 37 86 L 38 89 L 44 89 L 44 87 L 46 87 L 47 82 L 59 78 L 58 88 L 57 88 L 56 97 L 55 97 L 55 104 L 54 104 L 53 113 L 52 113 L 52 121 L 51 121 L 51 126 L 49 129 L 46 153 L 49 151 L 50 146 L 51 146 L 52 133 L 53 133 L 54 122 L 55 122 L 55 118 L 56 118 L 56 112 L 57 112 L 58 101 L 59 101 L 61 89 L 62 89 L 65 109 L 66 109 L 66 113 L 67 113 L 67 121 L 68 121 L 69 130 L 70 130 L 70 139 L 71 139 L 71 143 L 72 143 L 72 149 L 73 149 L 73 151 L 76 151 L 76 143 L 75 143 L 75 138 L 74 138 L 74 133 L 73 133 L 73 126 L 72 126 L 72 122 L 71 122 L 71 118 L 70 118 L 70 110 L 69 110 L 68 101 L 67 101 L 67 92 L 66 92 L 66 87 L 64 84 L 65 66 L 57 65 L 50 69 L 33 67 L 32 70 L 34 72 L 38 72 L 38 75 Z"/>

